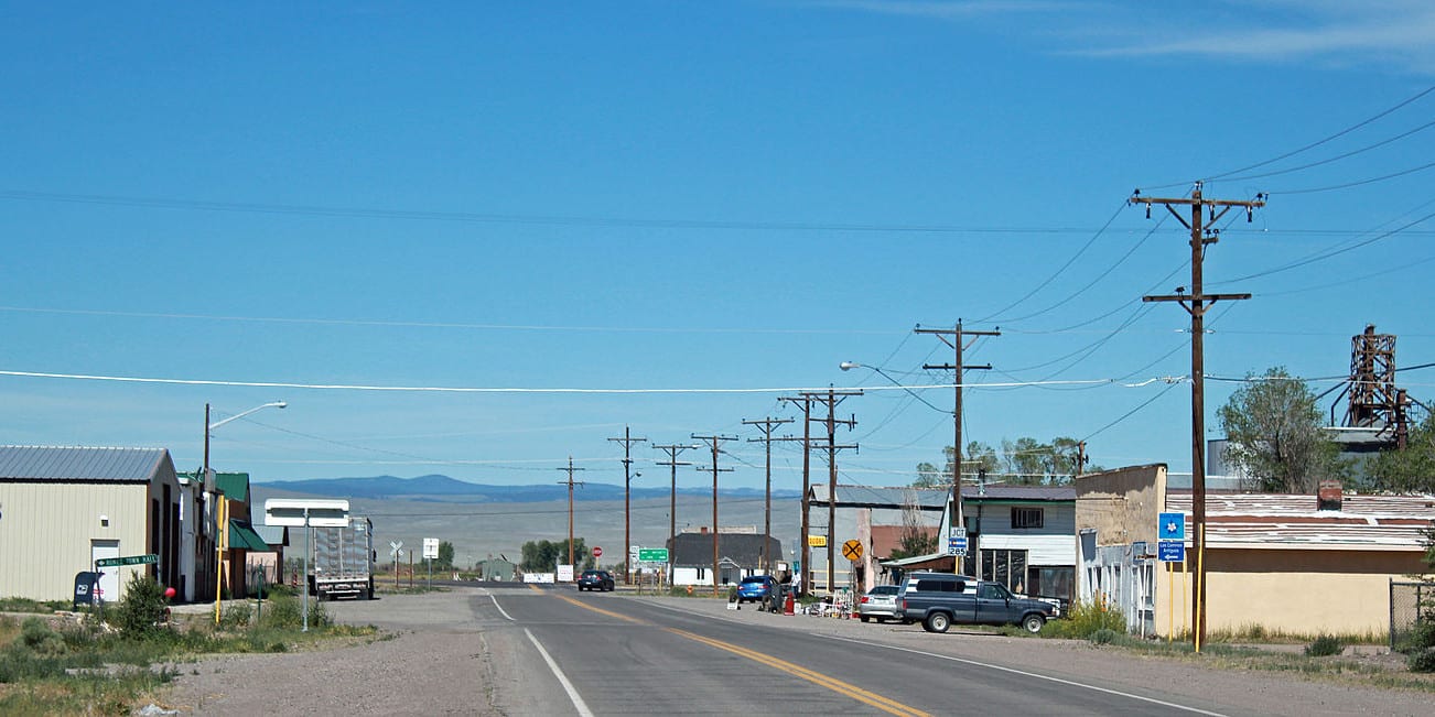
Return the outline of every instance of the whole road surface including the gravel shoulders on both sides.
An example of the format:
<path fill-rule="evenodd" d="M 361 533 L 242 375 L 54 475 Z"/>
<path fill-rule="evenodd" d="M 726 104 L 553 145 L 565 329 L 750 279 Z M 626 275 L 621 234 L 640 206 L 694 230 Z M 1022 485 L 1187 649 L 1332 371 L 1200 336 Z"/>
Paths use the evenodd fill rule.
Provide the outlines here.
<path fill-rule="evenodd" d="M 478 587 L 326 604 L 392 641 L 182 674 L 177 707 L 336 714 L 1428 714 L 1428 694 L 1145 660 L 1082 641 Z M 237 688 L 261 681 L 270 688 Z"/>

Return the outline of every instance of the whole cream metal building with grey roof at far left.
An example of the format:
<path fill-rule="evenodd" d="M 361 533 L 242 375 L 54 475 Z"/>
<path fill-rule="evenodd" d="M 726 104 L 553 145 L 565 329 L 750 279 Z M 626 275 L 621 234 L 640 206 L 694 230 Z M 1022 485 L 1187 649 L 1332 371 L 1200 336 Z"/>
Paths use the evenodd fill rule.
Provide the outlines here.
<path fill-rule="evenodd" d="M 119 599 L 135 574 L 179 574 L 181 488 L 165 449 L 0 446 L 0 597 L 70 599 L 95 561 Z"/>

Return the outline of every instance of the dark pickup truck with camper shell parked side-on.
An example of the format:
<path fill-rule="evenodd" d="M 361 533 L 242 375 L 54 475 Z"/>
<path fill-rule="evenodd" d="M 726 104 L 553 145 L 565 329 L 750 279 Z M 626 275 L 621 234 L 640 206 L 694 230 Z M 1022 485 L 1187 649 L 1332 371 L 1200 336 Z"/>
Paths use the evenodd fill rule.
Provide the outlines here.
<path fill-rule="evenodd" d="M 1056 607 L 1013 595 L 1000 582 L 964 575 L 916 572 L 897 592 L 897 619 L 921 622 L 927 632 L 946 632 L 953 622 L 967 625 L 1022 625 L 1040 632 Z"/>

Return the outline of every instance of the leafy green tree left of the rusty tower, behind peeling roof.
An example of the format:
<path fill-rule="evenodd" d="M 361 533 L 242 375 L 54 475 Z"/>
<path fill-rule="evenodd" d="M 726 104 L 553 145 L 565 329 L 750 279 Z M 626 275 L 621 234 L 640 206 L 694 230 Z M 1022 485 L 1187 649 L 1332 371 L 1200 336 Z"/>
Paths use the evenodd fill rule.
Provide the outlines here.
<path fill-rule="evenodd" d="M 1306 381 L 1283 366 L 1246 379 L 1220 410 L 1225 459 L 1266 492 L 1310 493 L 1322 479 L 1340 478 L 1336 445 Z"/>

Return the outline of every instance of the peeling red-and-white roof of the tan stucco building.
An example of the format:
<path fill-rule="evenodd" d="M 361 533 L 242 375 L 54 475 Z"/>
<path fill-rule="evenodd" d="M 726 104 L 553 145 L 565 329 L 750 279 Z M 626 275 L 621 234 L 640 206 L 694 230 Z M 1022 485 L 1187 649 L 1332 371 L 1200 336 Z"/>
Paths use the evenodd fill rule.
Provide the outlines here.
<path fill-rule="evenodd" d="M 1191 512 L 1191 493 L 1168 493 L 1167 511 Z M 1317 511 L 1313 495 L 1207 493 L 1205 538 L 1213 548 L 1424 551 L 1435 496 L 1342 496 Z M 1187 535 L 1191 535 L 1190 515 Z"/>

